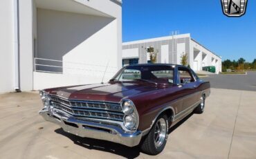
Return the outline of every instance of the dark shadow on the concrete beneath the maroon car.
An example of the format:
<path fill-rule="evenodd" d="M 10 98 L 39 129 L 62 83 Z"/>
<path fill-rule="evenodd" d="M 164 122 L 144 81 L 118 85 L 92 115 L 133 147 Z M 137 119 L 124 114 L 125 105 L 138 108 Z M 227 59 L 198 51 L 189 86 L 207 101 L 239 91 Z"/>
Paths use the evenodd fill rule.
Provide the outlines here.
<path fill-rule="evenodd" d="M 174 127 L 172 127 L 168 133 L 172 133 L 175 129 L 177 129 L 183 122 L 188 120 L 193 115 L 191 113 L 187 117 L 185 117 L 183 120 L 178 122 Z M 122 144 L 117 144 L 114 142 L 109 142 L 105 140 L 96 140 L 93 138 L 82 138 L 77 135 L 73 135 L 71 133 L 67 133 L 63 131 L 61 128 L 55 130 L 56 133 L 59 133 L 61 135 L 66 136 L 70 140 L 74 142 L 74 144 L 79 145 L 80 147 L 84 147 L 86 149 L 95 149 L 99 151 L 106 151 L 109 153 L 116 154 L 118 156 L 122 156 L 124 158 L 136 158 L 140 155 L 140 147 L 126 147 L 125 145 Z M 169 137 L 170 138 L 170 137 Z M 172 137 L 171 137 L 172 138 Z"/>

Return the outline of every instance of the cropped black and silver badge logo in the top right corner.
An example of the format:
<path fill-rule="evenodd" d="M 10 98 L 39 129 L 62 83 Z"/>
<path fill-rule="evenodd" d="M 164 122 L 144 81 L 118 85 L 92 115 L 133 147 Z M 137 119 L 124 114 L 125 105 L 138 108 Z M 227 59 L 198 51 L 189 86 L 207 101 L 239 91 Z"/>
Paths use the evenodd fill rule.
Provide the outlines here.
<path fill-rule="evenodd" d="M 241 17 L 246 13 L 247 0 L 221 0 L 224 15 Z"/>

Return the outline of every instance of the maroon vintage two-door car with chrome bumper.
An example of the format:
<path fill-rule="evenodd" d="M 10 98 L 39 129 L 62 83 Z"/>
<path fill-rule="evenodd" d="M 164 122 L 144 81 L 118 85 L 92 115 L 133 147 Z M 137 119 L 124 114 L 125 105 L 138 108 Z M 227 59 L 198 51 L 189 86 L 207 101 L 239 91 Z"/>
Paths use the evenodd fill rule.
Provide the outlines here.
<path fill-rule="evenodd" d="M 39 114 L 68 133 L 108 140 L 145 153 L 163 151 L 168 129 L 188 114 L 203 113 L 210 83 L 174 64 L 125 66 L 106 84 L 40 91 Z"/>

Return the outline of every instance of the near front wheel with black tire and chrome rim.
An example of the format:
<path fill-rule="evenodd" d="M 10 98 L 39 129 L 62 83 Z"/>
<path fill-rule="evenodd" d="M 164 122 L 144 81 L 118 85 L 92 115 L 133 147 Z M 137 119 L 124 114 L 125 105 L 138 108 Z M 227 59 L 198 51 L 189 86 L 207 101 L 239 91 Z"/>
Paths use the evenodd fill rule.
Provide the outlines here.
<path fill-rule="evenodd" d="M 161 125 L 161 127 L 160 127 Z M 155 135 L 156 134 L 156 135 Z M 165 148 L 168 137 L 167 115 L 160 115 L 140 144 L 140 149 L 149 155 L 157 155 Z"/>

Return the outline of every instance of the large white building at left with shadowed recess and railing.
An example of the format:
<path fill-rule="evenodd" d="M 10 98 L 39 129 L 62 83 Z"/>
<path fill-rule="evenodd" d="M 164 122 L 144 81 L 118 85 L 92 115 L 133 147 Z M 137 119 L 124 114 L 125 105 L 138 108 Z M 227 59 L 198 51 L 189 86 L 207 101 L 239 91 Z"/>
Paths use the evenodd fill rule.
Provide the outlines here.
<path fill-rule="evenodd" d="M 122 66 L 120 0 L 2 0 L 0 15 L 0 93 L 98 83 Z"/>

